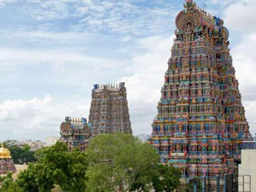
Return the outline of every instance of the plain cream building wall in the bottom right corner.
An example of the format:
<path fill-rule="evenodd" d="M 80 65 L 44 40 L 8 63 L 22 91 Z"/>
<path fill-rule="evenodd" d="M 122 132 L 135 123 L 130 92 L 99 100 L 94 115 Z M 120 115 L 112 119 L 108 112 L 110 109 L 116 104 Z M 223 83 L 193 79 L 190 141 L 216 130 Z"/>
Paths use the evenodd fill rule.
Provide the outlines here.
<path fill-rule="evenodd" d="M 239 177 L 240 183 L 244 180 L 244 183 L 251 182 L 251 190 L 249 189 L 249 184 L 244 185 L 244 191 L 256 191 L 256 149 L 244 149 L 241 150 L 241 165 L 239 165 L 239 175 L 245 175 L 245 177 Z M 251 181 L 249 177 L 251 176 Z M 240 186 L 239 191 L 243 191 Z"/>

